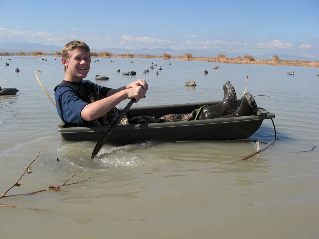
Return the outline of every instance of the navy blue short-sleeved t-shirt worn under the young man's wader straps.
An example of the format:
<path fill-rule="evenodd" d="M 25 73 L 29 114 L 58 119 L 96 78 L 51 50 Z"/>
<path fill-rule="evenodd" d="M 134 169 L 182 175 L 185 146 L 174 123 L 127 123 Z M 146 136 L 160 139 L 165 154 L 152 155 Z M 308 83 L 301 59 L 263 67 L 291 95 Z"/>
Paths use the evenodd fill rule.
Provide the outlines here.
<path fill-rule="evenodd" d="M 108 91 L 111 88 L 100 86 L 91 81 L 83 80 L 83 83 L 88 82 L 93 88 L 98 91 L 102 96 L 106 96 Z M 88 95 L 90 92 L 87 92 L 85 86 L 82 81 L 79 82 L 70 82 L 75 87 L 79 87 L 81 91 Z M 81 111 L 84 108 L 86 103 L 83 101 L 78 94 L 76 93 L 76 89 L 69 85 L 59 85 L 56 88 L 56 92 L 54 93 L 56 98 L 56 109 L 61 120 L 66 124 L 81 124 L 85 125 L 87 121 L 82 120 Z"/>

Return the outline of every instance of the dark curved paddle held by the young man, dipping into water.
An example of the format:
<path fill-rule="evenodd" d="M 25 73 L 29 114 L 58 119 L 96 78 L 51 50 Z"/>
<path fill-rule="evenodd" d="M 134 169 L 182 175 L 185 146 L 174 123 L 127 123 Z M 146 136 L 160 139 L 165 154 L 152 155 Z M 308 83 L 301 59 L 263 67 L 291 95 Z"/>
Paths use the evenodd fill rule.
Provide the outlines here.
<path fill-rule="evenodd" d="M 115 128 L 118 126 L 118 124 L 120 123 L 120 121 L 123 119 L 124 115 L 129 111 L 130 107 L 133 105 L 133 103 L 135 102 L 135 99 L 132 98 L 129 102 L 129 104 L 127 104 L 124 108 L 124 110 L 119 114 L 119 116 L 117 116 L 117 118 L 115 119 L 115 121 L 111 124 L 110 127 L 108 127 L 108 130 L 103 134 L 103 136 L 100 138 L 100 140 L 97 142 L 97 144 L 95 145 L 93 152 L 92 152 L 92 156 L 91 158 L 94 158 L 101 150 L 101 148 L 103 147 L 103 145 L 106 143 L 106 141 L 108 140 L 108 138 L 111 136 L 111 134 L 113 133 L 113 131 L 115 130 Z"/>

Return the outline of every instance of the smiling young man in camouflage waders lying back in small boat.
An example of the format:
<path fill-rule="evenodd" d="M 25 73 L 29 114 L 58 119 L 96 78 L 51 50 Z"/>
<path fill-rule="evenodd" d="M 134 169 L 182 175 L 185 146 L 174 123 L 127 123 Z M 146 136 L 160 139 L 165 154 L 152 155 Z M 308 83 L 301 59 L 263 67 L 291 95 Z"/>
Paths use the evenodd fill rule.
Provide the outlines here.
<path fill-rule="evenodd" d="M 120 111 L 115 107 L 122 100 L 135 98 L 138 102 L 145 98 L 148 85 L 143 79 L 129 83 L 118 89 L 100 86 L 83 80 L 90 70 L 90 48 L 82 41 L 70 41 L 63 47 L 61 62 L 65 77 L 55 87 L 57 112 L 69 127 L 102 126 L 112 124 Z M 185 120 L 205 120 L 214 118 L 254 115 L 257 105 L 253 97 L 246 93 L 239 104 L 236 91 L 230 81 L 224 84 L 224 99 L 216 105 L 205 105 L 186 114 L 169 114 L 154 119 L 152 116 L 124 117 L 119 124 L 141 124 L 173 122 Z"/>

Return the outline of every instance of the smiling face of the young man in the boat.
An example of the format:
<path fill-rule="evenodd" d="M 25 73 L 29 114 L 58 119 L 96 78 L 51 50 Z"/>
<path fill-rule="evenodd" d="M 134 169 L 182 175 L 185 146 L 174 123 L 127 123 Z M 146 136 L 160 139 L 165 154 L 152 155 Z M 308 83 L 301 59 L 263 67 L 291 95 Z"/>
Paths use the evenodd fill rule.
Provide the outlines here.
<path fill-rule="evenodd" d="M 74 48 L 69 60 L 66 61 L 65 58 L 62 58 L 62 63 L 66 68 L 68 80 L 81 81 L 90 70 L 90 52 L 84 51 L 81 48 Z"/>

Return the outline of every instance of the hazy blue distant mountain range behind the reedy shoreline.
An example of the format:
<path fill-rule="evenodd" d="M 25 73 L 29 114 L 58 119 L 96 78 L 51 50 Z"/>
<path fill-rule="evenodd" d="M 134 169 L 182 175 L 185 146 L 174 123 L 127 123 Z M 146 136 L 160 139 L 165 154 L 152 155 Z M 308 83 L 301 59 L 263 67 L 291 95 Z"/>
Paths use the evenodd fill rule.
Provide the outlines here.
<path fill-rule="evenodd" d="M 62 53 L 62 48 L 60 46 L 45 45 L 38 43 L 26 43 L 26 42 L 1 42 L 0 43 L 0 53 L 9 52 L 14 54 L 19 54 L 24 52 L 29 54 L 35 51 L 41 51 L 45 54 L 55 54 L 57 51 Z M 276 54 L 276 53 L 267 53 L 263 55 L 251 55 L 246 53 L 228 53 L 223 51 L 216 50 L 174 50 L 170 48 L 142 48 L 142 49 L 118 49 L 118 48 L 104 48 L 97 49 L 91 48 L 92 52 L 110 52 L 112 54 L 134 54 L 139 55 L 152 55 L 152 56 L 162 56 L 163 53 L 170 54 L 171 56 L 184 56 L 186 53 L 193 54 L 194 57 L 207 57 L 213 58 L 217 55 L 223 54 L 228 58 L 237 58 L 237 56 L 250 55 L 256 60 L 272 60 L 273 55 L 278 55 L 281 60 L 298 60 L 298 61 L 316 61 L 314 59 L 309 59 L 300 56 L 293 56 L 288 54 Z"/>

